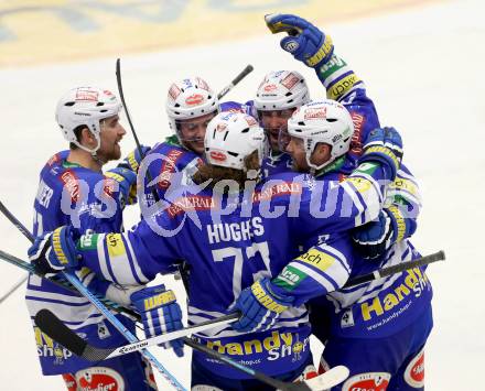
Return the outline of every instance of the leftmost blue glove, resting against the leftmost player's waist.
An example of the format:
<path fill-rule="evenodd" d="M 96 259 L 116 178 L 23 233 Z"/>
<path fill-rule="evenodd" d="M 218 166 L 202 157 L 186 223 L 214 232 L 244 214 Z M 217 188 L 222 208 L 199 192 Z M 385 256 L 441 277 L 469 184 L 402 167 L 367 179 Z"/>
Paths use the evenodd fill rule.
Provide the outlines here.
<path fill-rule="evenodd" d="M 47 276 L 76 268 L 78 259 L 74 229 L 63 226 L 35 238 L 28 254 L 35 270 Z"/>

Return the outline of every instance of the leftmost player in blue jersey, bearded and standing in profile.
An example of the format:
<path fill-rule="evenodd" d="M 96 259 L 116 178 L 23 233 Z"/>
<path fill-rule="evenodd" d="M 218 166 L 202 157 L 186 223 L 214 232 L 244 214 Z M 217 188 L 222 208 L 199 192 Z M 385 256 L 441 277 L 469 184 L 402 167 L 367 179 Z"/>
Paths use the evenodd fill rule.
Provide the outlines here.
<path fill-rule="evenodd" d="M 101 172 L 105 163 L 121 156 L 119 142 L 126 130 L 119 122 L 120 110 L 121 105 L 112 93 L 96 87 L 74 88 L 60 99 L 56 121 L 69 142 L 69 150 L 51 158 L 40 174 L 34 236 L 66 225 L 80 232 L 121 231 L 122 209 L 134 202 L 140 158 L 134 151 L 118 167 Z M 116 302 L 127 303 L 134 291 L 134 287 L 118 289 L 88 269 L 78 270 L 77 276 L 91 291 Z M 25 298 L 31 317 L 47 307 L 97 346 L 116 347 L 126 341 L 88 300 L 45 279 L 31 275 Z M 132 321 L 118 317 L 127 327 L 134 328 Z M 43 373 L 62 374 L 69 391 L 157 389 L 151 366 L 139 354 L 93 366 L 35 326 L 34 332 Z"/>

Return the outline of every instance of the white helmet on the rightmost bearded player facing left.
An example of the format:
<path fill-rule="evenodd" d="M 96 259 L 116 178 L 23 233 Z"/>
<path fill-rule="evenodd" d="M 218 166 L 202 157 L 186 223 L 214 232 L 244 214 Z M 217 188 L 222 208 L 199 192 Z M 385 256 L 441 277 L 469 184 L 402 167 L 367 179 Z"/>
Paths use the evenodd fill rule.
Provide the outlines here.
<path fill-rule="evenodd" d="M 300 107 L 288 120 L 288 133 L 303 140 L 306 163 L 314 170 L 323 169 L 347 153 L 354 122 L 348 110 L 336 100 L 322 99 Z M 330 160 L 321 165 L 311 163 L 317 143 L 332 146 Z"/>

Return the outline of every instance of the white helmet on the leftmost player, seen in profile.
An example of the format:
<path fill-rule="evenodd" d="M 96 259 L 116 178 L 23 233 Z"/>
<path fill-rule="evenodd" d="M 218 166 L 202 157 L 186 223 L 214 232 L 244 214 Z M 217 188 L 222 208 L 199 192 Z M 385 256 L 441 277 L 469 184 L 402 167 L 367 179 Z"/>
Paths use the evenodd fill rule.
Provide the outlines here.
<path fill-rule="evenodd" d="M 97 87 L 77 87 L 68 90 L 58 100 L 55 120 L 64 139 L 87 152 L 96 153 L 100 145 L 100 121 L 118 115 L 120 110 L 121 104 L 111 91 Z M 74 130 L 80 126 L 87 127 L 96 138 L 97 146 L 94 150 L 77 141 Z"/>

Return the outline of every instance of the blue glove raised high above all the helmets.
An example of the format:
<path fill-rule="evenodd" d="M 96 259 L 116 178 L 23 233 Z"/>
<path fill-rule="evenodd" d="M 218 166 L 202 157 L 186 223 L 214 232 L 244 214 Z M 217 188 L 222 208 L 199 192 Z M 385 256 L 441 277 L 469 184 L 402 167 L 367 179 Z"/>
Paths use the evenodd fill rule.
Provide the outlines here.
<path fill-rule="evenodd" d="M 332 39 L 304 19 L 292 14 L 273 13 L 266 15 L 265 20 L 273 34 L 279 32 L 289 34 L 280 41 L 281 47 L 305 65 L 316 68 L 332 57 L 334 50 Z"/>

